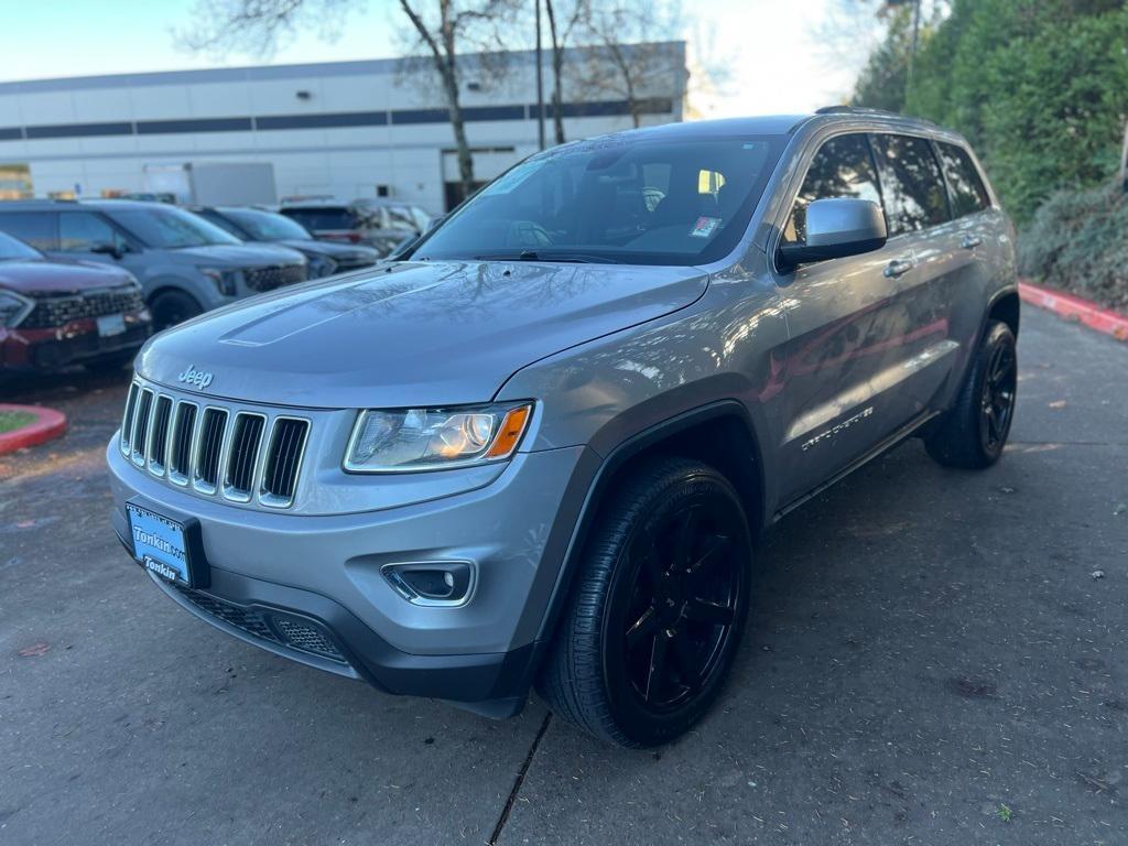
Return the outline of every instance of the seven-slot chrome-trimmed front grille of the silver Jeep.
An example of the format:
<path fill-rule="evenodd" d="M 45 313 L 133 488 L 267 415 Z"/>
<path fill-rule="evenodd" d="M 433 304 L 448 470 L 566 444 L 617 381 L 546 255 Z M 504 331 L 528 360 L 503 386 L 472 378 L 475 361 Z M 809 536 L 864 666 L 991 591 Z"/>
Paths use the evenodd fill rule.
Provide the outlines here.
<path fill-rule="evenodd" d="M 166 484 L 272 509 L 294 503 L 312 424 L 307 417 L 219 402 L 199 404 L 135 378 L 120 448 Z"/>

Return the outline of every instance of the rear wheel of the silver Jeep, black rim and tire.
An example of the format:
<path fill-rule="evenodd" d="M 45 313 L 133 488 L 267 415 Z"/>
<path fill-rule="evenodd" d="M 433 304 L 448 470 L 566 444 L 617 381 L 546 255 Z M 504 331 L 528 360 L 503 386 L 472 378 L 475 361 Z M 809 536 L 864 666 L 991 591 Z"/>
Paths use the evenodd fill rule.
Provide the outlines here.
<path fill-rule="evenodd" d="M 925 439 L 928 455 L 945 467 L 982 469 L 995 464 L 1014 421 L 1017 371 L 1011 328 L 988 323 L 955 405 Z"/>

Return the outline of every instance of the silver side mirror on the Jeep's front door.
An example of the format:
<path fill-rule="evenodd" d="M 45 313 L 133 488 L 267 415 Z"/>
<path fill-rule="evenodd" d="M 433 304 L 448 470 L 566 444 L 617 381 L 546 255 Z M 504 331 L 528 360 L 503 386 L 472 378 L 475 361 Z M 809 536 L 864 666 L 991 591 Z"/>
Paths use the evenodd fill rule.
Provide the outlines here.
<path fill-rule="evenodd" d="M 885 245 L 885 215 L 870 200 L 836 197 L 807 206 L 807 240 L 784 244 L 779 257 L 787 267 L 826 258 L 871 253 Z"/>

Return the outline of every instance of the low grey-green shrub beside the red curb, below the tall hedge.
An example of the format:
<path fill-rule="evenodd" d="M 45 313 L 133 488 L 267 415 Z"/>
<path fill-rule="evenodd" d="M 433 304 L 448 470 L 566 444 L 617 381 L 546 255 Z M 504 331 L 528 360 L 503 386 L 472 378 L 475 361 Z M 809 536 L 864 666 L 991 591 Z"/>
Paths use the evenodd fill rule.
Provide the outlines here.
<path fill-rule="evenodd" d="M 1128 195 L 1119 180 L 1052 194 L 1019 238 L 1019 271 L 1128 311 Z"/>

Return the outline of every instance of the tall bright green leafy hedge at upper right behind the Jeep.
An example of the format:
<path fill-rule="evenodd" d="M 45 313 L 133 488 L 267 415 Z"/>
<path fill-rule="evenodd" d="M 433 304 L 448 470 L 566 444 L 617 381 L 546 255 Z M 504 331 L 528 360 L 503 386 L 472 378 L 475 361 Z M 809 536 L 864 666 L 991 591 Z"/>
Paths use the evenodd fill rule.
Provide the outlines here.
<path fill-rule="evenodd" d="M 1122 0 L 953 0 L 922 33 L 907 90 L 906 27 L 901 10 L 855 100 L 899 100 L 906 114 L 962 132 L 1020 226 L 1055 191 L 1116 173 L 1128 120 Z"/>

